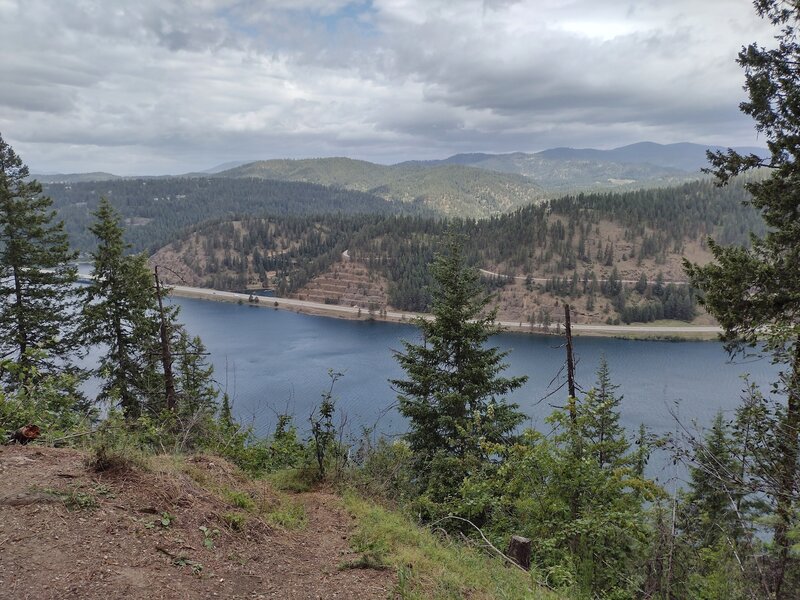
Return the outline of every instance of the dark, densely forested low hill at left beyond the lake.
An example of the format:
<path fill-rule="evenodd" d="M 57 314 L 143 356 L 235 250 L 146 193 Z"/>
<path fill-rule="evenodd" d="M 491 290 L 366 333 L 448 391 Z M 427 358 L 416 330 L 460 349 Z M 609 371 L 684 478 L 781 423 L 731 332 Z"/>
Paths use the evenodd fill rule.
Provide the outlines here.
<path fill-rule="evenodd" d="M 121 213 L 133 250 L 154 252 L 187 228 L 242 215 L 318 213 L 430 214 L 419 202 L 387 202 L 374 194 L 302 182 L 256 178 L 170 177 L 44 184 L 72 246 L 94 247 L 88 231 L 101 197 Z"/>

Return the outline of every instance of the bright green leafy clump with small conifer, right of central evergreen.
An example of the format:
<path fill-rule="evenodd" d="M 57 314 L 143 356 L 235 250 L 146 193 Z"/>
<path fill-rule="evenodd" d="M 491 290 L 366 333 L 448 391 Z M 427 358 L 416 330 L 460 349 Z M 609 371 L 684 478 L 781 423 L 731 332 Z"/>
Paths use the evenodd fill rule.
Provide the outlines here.
<path fill-rule="evenodd" d="M 488 447 L 499 466 L 467 477 L 449 506 L 496 544 L 530 538 L 547 580 L 581 597 L 631 597 L 649 544 L 643 503 L 661 494 L 629 453 L 615 388 L 603 360 L 597 385 L 548 418 L 549 435 Z"/>

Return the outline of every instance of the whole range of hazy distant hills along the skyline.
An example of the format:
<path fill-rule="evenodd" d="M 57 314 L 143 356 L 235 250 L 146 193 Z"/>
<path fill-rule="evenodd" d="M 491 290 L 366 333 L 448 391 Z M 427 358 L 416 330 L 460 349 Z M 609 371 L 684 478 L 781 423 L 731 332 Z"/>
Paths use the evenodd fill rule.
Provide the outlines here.
<path fill-rule="evenodd" d="M 449 216 L 487 217 L 568 193 L 647 189 L 703 177 L 701 144 L 641 142 L 611 150 L 552 148 L 536 153 L 456 154 L 442 160 L 382 165 L 350 158 L 225 163 L 174 178 L 291 181 L 366 192 L 385 200 L 421 202 Z M 761 148 L 736 148 L 766 156 Z M 42 183 L 119 179 L 110 173 L 33 175 Z M 148 179 L 172 179 L 157 177 Z M 128 178 L 130 179 L 130 178 Z"/>

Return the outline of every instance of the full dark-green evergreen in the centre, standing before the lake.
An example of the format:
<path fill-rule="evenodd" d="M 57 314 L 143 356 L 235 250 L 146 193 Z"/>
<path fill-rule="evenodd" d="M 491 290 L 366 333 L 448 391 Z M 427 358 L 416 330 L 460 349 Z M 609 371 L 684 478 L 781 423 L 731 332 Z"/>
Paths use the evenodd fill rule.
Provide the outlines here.
<path fill-rule="evenodd" d="M 392 380 L 418 481 L 434 501 L 457 492 L 471 468 L 488 461 L 484 443 L 506 441 L 523 415 L 502 396 L 525 377 L 501 377 L 507 353 L 486 345 L 500 328 L 488 310 L 478 273 L 467 266 L 461 240 L 450 234 L 432 274 L 431 320 L 418 319 L 423 342 L 397 352 L 406 379 Z"/>

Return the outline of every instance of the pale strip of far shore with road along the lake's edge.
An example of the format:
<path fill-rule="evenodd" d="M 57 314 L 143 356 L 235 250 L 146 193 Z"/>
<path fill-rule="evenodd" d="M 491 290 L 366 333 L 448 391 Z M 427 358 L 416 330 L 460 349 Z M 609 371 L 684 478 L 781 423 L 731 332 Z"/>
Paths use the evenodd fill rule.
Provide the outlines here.
<path fill-rule="evenodd" d="M 291 310 L 293 312 L 315 315 L 328 318 L 349 319 L 359 321 L 385 321 L 389 323 L 410 323 L 416 318 L 429 318 L 425 313 L 386 311 L 369 314 L 364 309 L 338 304 L 321 304 L 307 300 L 293 298 L 270 298 L 256 296 L 258 302 L 250 302 L 250 294 L 238 292 L 225 292 L 209 288 L 197 288 L 185 285 L 170 286 L 171 293 L 181 298 L 194 298 L 198 300 L 211 300 L 214 302 L 233 302 L 248 304 L 259 308 L 272 308 L 273 310 Z M 560 326 L 551 326 L 545 330 L 536 323 L 520 323 L 515 321 L 498 321 L 498 325 L 509 333 L 524 333 L 528 335 L 560 335 Z M 572 332 L 576 336 L 586 337 L 616 337 L 623 339 L 643 340 L 669 340 L 669 341 L 712 341 L 716 340 L 722 330 L 715 326 L 706 325 L 605 325 L 589 323 L 573 323 Z"/>

